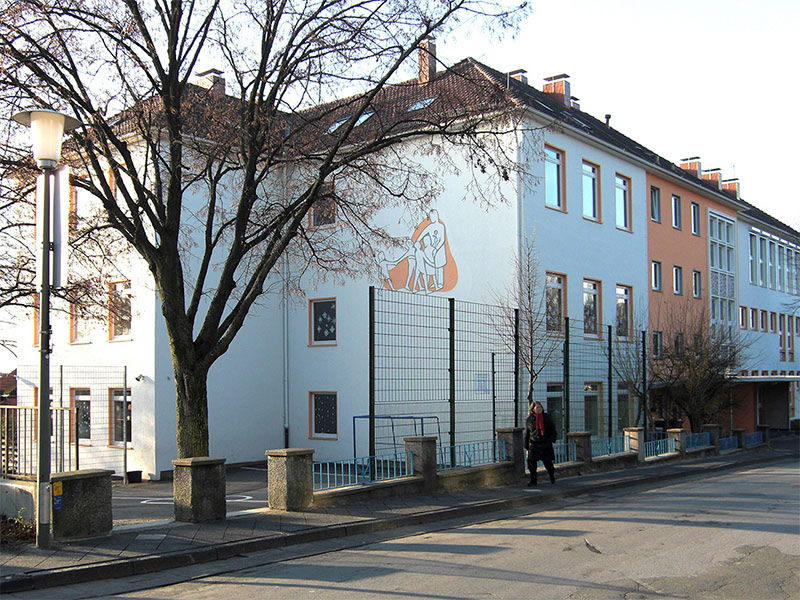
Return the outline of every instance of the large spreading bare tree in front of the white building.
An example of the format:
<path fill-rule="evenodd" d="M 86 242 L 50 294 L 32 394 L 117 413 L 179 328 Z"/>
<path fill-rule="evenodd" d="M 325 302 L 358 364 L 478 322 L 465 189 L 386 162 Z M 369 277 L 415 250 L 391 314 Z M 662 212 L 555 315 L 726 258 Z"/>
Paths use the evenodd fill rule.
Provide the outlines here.
<path fill-rule="evenodd" d="M 375 222 L 378 212 L 424 210 L 435 197 L 436 178 L 414 156 L 434 153 L 442 162 L 461 147 L 470 168 L 490 180 L 507 179 L 513 168 L 493 141 L 514 128 L 512 107 L 474 63 L 430 82 L 389 83 L 424 40 L 460 15 L 503 29 L 524 14 L 519 7 L 482 0 L 5 7 L 3 109 L 66 109 L 85 124 L 65 151 L 85 175 L 74 185 L 99 200 L 96 225 L 112 228 L 152 274 L 175 374 L 179 457 L 208 455 L 209 369 L 282 256 L 296 272 L 314 265 L 334 276 L 363 274 L 373 246 L 392 243 Z M 232 95 L 214 73 L 205 86 L 189 82 L 209 63 L 224 69 Z M 352 95 L 324 103 L 344 94 Z M 420 102 L 416 110 L 412 102 Z M 333 230 L 308 224 L 323 197 L 336 205 Z"/>

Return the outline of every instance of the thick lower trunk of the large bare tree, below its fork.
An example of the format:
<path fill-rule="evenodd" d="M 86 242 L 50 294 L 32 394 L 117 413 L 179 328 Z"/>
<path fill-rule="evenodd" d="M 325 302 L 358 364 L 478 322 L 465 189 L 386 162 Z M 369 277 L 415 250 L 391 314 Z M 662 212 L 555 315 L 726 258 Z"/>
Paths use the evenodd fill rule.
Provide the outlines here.
<path fill-rule="evenodd" d="M 208 456 L 208 371 L 184 368 L 173 358 L 178 458 Z"/>

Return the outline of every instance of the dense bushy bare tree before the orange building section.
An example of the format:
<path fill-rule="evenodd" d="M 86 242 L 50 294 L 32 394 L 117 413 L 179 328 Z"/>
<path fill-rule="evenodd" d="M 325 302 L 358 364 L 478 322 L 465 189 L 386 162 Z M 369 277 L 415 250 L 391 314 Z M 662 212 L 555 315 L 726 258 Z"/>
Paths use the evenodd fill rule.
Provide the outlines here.
<path fill-rule="evenodd" d="M 705 307 L 676 305 L 659 315 L 664 342 L 651 349 L 653 395 L 662 410 L 676 407 L 699 432 L 731 407 L 727 392 L 747 351 L 738 330 L 710 323 Z"/>

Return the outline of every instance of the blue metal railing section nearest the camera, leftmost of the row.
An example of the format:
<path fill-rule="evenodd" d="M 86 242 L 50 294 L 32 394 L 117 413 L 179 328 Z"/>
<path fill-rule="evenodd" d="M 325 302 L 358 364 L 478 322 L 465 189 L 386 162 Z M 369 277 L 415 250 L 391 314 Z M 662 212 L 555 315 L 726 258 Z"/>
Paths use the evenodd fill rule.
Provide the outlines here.
<path fill-rule="evenodd" d="M 315 492 L 408 477 L 414 474 L 413 453 L 394 452 L 315 462 L 312 474 Z"/>

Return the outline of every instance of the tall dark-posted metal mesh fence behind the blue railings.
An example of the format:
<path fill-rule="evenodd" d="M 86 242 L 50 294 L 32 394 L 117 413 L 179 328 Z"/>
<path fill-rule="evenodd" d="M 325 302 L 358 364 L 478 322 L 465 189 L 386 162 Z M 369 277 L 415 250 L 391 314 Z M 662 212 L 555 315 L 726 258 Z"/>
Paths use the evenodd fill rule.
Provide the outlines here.
<path fill-rule="evenodd" d="M 530 374 L 516 360 L 517 332 L 507 309 L 373 293 L 375 452 L 396 450 L 407 435 L 436 435 L 440 444 L 454 445 L 524 425 Z M 559 439 L 569 431 L 612 437 L 640 423 L 636 390 L 645 386 L 638 333 L 564 319 L 561 331 L 546 335 L 537 343 L 555 351 L 538 354 L 532 365 L 534 398 L 553 417 Z"/>

